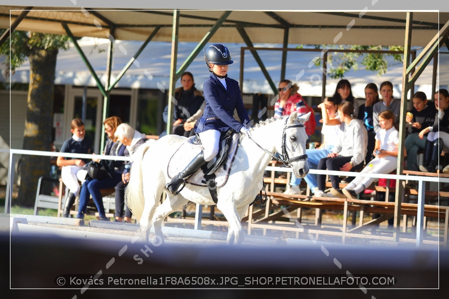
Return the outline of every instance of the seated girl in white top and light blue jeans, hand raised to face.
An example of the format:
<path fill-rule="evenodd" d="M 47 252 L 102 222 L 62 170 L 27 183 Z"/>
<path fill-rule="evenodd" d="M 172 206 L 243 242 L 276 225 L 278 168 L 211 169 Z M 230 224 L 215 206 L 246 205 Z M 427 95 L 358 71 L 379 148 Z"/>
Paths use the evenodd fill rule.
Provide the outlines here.
<path fill-rule="evenodd" d="M 321 109 L 321 114 L 323 116 L 320 122 L 323 122 L 321 129 L 321 134 L 323 135 L 323 142 L 317 149 L 306 149 L 307 161 L 309 162 L 310 169 L 316 169 L 320 159 L 327 157 L 332 149 L 339 143 L 339 131 L 341 130 L 341 125 L 328 125 L 332 121 L 338 121 L 337 116 L 337 104 L 334 98 L 325 98 L 324 101 L 318 105 Z M 324 120 L 324 121 L 323 121 Z M 341 123 L 340 123 L 341 124 Z M 316 180 L 316 174 L 307 173 L 304 177 L 310 191 L 315 194 L 315 196 L 322 196 L 323 192 L 318 191 L 318 183 Z M 299 184 L 301 183 L 301 178 L 296 178 L 294 175 L 291 176 L 290 188 L 288 188 L 284 194 L 301 194 L 299 189 Z"/>

